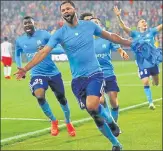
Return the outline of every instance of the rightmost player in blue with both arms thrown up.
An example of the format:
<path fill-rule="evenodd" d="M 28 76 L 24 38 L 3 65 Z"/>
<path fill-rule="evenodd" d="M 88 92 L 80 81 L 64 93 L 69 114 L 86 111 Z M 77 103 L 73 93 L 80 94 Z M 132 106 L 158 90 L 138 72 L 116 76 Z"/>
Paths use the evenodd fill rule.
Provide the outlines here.
<path fill-rule="evenodd" d="M 140 19 L 137 24 L 137 28 L 139 31 L 131 30 L 131 28 L 127 27 L 121 19 L 121 10 L 119 10 L 116 6 L 114 7 L 114 12 L 118 18 L 121 28 L 133 39 L 141 40 L 143 39 L 145 42 L 149 43 L 150 45 L 154 46 L 154 39 L 155 36 L 158 34 L 159 31 L 162 30 L 162 24 L 158 25 L 154 28 L 149 28 L 147 22 L 144 19 Z M 142 80 L 144 85 L 144 92 L 146 94 L 147 100 L 149 102 L 149 108 L 155 109 L 152 99 L 152 92 L 150 89 L 150 79 L 149 77 L 152 76 L 152 83 L 153 85 L 159 84 L 159 66 L 157 63 L 153 64 L 152 61 L 144 59 L 143 63 L 140 64 L 141 59 L 136 57 L 136 63 L 139 69 L 139 77 Z"/>

